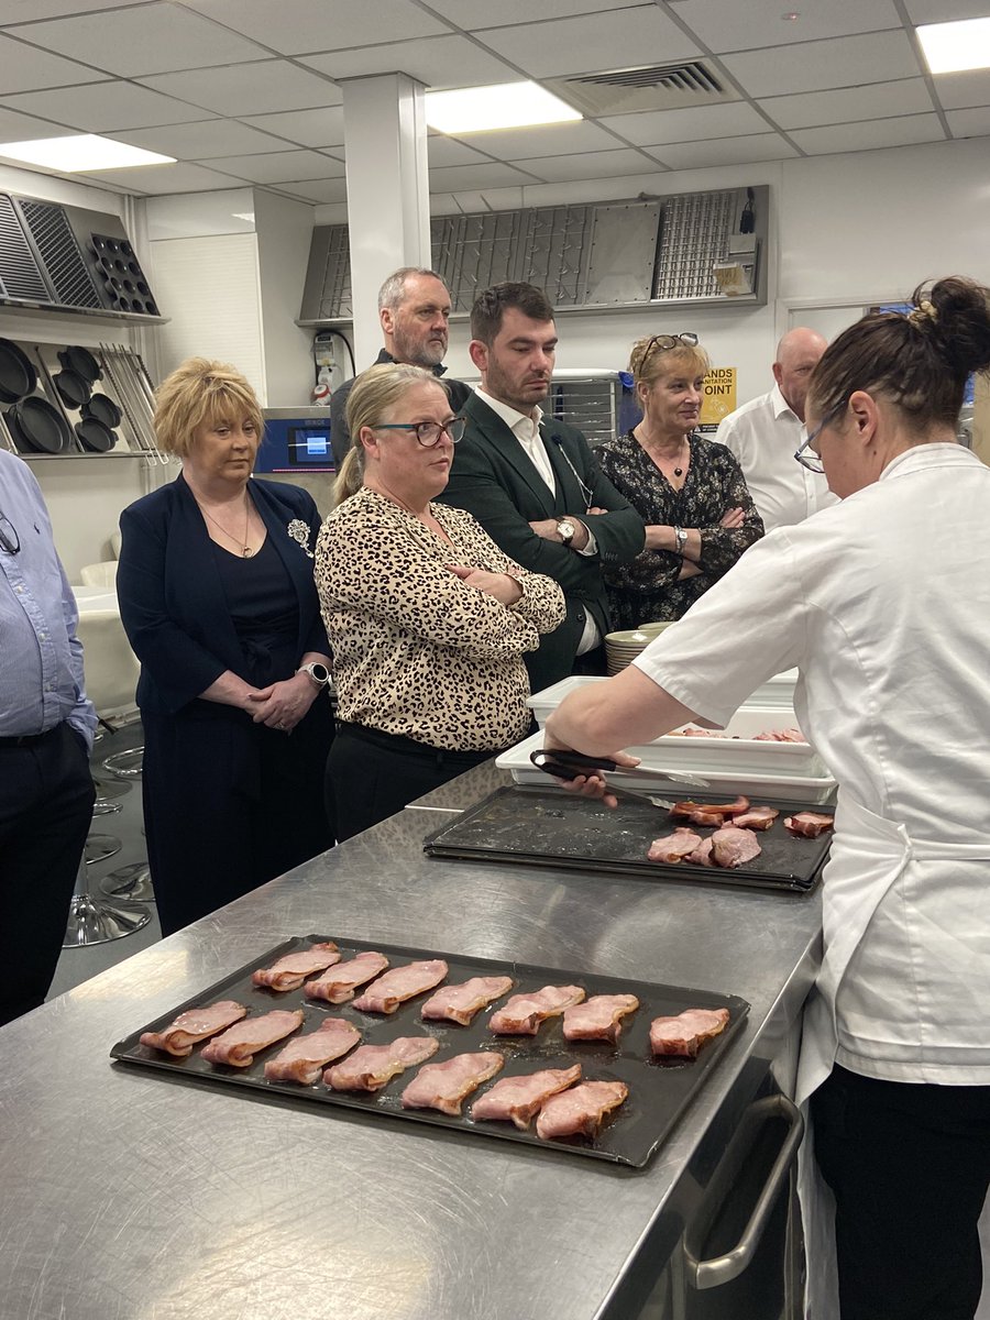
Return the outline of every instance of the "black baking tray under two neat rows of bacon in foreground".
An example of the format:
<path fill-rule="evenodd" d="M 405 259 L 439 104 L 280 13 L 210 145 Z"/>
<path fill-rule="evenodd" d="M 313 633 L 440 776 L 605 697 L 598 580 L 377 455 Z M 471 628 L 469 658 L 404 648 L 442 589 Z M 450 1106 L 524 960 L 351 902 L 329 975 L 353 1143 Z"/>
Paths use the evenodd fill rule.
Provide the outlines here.
<path fill-rule="evenodd" d="M 442 958 L 447 974 L 441 985 L 458 985 L 470 977 L 503 975 L 512 979 L 512 989 L 475 1014 L 469 1026 L 450 1022 L 424 1020 L 420 1010 L 432 990 L 416 995 L 391 1015 L 363 1012 L 352 1002 L 333 1005 L 306 998 L 304 990 L 279 993 L 255 985 L 252 973 L 269 968 L 285 954 L 302 952 L 313 944 L 333 940 L 346 961 L 363 950 L 378 950 L 392 968 L 405 962 Z M 315 974 L 318 975 L 318 973 Z M 632 994 L 639 1008 L 623 1018 L 623 1030 L 615 1044 L 609 1041 L 568 1041 L 562 1035 L 562 1019 L 544 1022 L 535 1036 L 503 1036 L 490 1030 L 494 1012 L 504 1007 L 513 994 L 532 993 L 548 985 L 581 986 L 587 998 L 599 994 Z M 358 990 L 358 995 L 360 995 Z M 388 1044 L 399 1036 L 430 1036 L 438 1041 L 437 1052 L 426 1060 L 444 1063 L 455 1055 L 496 1051 L 504 1056 L 504 1067 L 490 1081 L 483 1082 L 463 1105 L 461 1115 L 447 1115 L 438 1110 L 404 1109 L 401 1094 L 417 1074 L 420 1065 L 412 1065 L 375 1093 L 331 1090 L 322 1077 L 313 1085 L 269 1081 L 264 1074 L 265 1061 L 279 1053 L 286 1040 L 260 1049 L 248 1068 L 214 1065 L 202 1059 L 206 1041 L 195 1045 L 185 1059 L 173 1057 L 160 1049 L 141 1044 L 148 1031 L 164 1031 L 178 1014 L 202 1008 L 223 999 L 244 1005 L 248 1018 L 260 1016 L 272 1008 L 302 1010 L 301 1032 L 321 1026 L 326 1016 L 350 1022 L 362 1034 L 360 1044 Z M 729 1023 L 721 1035 L 701 1045 L 694 1059 L 653 1059 L 649 1048 L 649 1024 L 657 1016 L 676 1016 L 686 1008 L 726 1008 Z M 263 1096 L 286 1104 L 315 1106 L 318 1111 L 333 1114 L 338 1109 L 363 1111 L 372 1119 L 428 1123 L 473 1137 L 494 1138 L 560 1151 L 562 1155 L 590 1156 L 642 1168 L 665 1140 L 678 1117 L 692 1102 L 711 1069 L 730 1048 L 733 1039 L 748 1012 L 748 1003 L 738 995 L 717 994 L 710 990 L 689 990 L 647 981 L 597 975 L 574 969 L 540 968 L 529 964 L 474 958 L 453 953 L 412 949 L 392 944 L 368 944 L 363 940 L 338 935 L 294 936 L 282 944 L 259 953 L 249 964 L 224 977 L 199 994 L 177 1005 L 154 1022 L 117 1041 L 111 1057 L 121 1064 L 149 1069 L 189 1082 L 230 1090 L 244 1097 Z M 292 1040 L 294 1032 L 288 1040 Z M 347 1055 L 339 1061 L 345 1063 Z M 612 1110 L 593 1138 L 572 1137 L 543 1139 L 536 1134 L 536 1122 L 529 1129 L 517 1129 L 506 1121 L 473 1119 L 471 1105 L 504 1077 L 520 1076 L 546 1068 L 570 1068 L 581 1064 L 581 1081 L 622 1081 L 628 1086 L 623 1105 Z"/>

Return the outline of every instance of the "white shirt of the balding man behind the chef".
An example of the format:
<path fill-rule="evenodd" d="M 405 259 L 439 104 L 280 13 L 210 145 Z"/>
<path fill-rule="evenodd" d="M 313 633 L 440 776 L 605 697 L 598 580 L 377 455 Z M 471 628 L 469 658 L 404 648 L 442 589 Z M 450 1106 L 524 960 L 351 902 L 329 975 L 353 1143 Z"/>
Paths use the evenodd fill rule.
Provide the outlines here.
<path fill-rule="evenodd" d="M 718 424 L 715 440 L 738 459 L 768 532 L 801 523 L 836 503 L 825 478 L 795 459 L 795 450 L 807 434 L 804 422 L 791 411 L 779 385 L 768 395 L 751 399 Z"/>

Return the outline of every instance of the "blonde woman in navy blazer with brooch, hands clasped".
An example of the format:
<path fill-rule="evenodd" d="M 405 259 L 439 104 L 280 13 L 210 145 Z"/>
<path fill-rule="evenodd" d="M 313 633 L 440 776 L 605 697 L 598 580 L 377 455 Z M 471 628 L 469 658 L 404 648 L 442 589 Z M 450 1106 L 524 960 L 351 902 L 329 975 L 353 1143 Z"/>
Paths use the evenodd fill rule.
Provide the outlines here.
<path fill-rule="evenodd" d="M 120 616 L 141 676 L 144 820 L 164 935 L 325 851 L 330 645 L 313 582 L 319 515 L 251 479 L 248 381 L 191 358 L 157 392 L 181 475 L 120 517 Z"/>

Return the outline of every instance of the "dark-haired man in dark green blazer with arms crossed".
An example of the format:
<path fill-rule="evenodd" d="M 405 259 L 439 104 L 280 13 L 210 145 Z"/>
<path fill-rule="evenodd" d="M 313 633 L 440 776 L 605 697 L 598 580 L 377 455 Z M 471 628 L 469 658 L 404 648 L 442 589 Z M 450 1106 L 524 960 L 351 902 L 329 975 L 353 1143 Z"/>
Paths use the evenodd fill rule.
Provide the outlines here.
<path fill-rule="evenodd" d="M 482 384 L 440 496 L 466 508 L 513 560 L 564 589 L 568 614 L 525 657 L 533 692 L 570 673 L 605 673 L 603 564 L 643 549 L 643 520 L 601 473 L 574 426 L 544 416 L 557 331 L 532 284 L 496 284 L 471 310 L 470 354 Z"/>

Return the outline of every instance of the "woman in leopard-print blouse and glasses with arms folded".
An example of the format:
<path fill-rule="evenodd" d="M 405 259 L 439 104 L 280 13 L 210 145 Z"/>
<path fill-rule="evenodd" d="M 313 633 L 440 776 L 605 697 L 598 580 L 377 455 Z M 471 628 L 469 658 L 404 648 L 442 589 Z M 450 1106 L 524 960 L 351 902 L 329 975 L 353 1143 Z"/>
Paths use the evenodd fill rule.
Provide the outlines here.
<path fill-rule="evenodd" d="M 434 503 L 463 420 L 420 367 L 383 364 L 347 400 L 354 447 L 317 543 L 338 737 L 327 796 L 350 838 L 524 738 L 523 655 L 564 618 L 550 578 Z"/>

